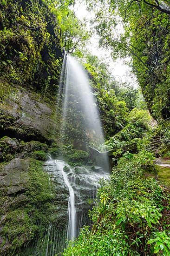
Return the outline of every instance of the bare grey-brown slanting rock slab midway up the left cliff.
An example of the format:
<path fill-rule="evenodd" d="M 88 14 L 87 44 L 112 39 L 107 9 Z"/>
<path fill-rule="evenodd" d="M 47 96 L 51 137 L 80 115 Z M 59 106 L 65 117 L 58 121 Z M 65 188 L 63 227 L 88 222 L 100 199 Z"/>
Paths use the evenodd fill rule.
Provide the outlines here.
<path fill-rule="evenodd" d="M 50 141 L 55 136 L 55 108 L 40 96 L 18 90 L 0 103 L 0 133 L 27 140 Z"/>

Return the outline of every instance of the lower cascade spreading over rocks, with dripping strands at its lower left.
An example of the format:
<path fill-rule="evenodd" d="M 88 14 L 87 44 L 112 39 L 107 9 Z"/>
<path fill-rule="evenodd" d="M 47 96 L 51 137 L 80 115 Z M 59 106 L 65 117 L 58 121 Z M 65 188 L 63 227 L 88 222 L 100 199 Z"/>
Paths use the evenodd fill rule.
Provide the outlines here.
<path fill-rule="evenodd" d="M 47 238 L 42 246 L 44 249 L 37 254 L 53 256 L 64 250 L 68 240 L 74 240 L 78 236 L 80 228 L 92 224 L 88 210 L 94 205 L 99 180 L 108 179 L 108 174 L 101 167 L 71 168 L 62 160 L 52 159 L 46 162 L 45 169 L 56 184 L 58 196 L 62 193 L 66 197 L 60 199 L 60 207 L 63 208 L 59 209 L 60 229 L 49 225 Z"/>

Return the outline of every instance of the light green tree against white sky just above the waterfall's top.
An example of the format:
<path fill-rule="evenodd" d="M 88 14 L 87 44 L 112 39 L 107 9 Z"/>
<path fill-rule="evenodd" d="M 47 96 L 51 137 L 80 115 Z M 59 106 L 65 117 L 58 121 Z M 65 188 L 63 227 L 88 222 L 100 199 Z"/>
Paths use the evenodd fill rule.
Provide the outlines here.
<path fill-rule="evenodd" d="M 90 33 L 85 27 L 85 22 L 78 20 L 71 9 L 74 0 L 45 0 L 52 13 L 56 15 L 59 25 L 61 47 L 68 53 L 83 57 L 85 43 Z"/>

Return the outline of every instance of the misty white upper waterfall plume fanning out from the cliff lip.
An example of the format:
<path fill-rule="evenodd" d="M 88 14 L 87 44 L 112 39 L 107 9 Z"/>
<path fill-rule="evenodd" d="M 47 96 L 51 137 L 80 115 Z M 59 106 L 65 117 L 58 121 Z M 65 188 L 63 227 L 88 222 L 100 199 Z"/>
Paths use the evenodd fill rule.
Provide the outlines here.
<path fill-rule="evenodd" d="M 96 147 L 103 144 L 103 128 L 87 72 L 69 54 L 65 54 L 63 61 L 59 99 L 59 106 L 62 106 L 61 136 L 64 141 L 79 139 Z"/>

